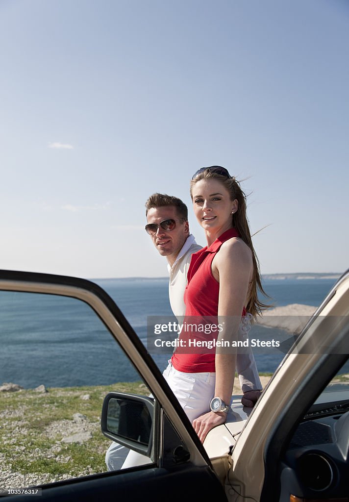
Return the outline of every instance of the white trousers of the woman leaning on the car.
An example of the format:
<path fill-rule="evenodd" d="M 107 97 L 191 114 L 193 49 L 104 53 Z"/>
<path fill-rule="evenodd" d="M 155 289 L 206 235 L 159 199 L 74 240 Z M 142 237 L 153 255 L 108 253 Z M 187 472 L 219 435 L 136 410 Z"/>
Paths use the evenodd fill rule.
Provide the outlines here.
<path fill-rule="evenodd" d="M 209 411 L 214 397 L 215 373 L 183 373 L 169 361 L 163 376 L 191 423 Z M 111 443 L 105 454 L 105 463 L 108 470 L 118 470 L 148 464 L 151 460 L 119 443 Z"/>

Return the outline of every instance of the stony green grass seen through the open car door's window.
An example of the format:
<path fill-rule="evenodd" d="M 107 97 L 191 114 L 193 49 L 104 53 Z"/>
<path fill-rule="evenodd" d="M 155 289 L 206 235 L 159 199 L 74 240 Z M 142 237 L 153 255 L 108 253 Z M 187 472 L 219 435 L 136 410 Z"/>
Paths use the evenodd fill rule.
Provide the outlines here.
<path fill-rule="evenodd" d="M 0 476 L 36 473 L 47 482 L 104 472 L 110 440 L 100 431 L 100 415 L 111 391 L 149 395 L 142 382 L 0 393 Z M 87 439 L 64 441 L 78 432 Z"/>

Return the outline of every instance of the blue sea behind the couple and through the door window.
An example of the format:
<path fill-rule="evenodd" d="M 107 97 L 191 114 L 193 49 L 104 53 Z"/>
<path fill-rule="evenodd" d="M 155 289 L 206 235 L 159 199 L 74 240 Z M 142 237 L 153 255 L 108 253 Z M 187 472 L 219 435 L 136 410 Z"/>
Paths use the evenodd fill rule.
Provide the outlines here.
<path fill-rule="evenodd" d="M 92 279 L 92 282 L 101 286 L 115 301 L 145 346 L 148 316 L 172 315 L 168 278 Z M 297 303 L 318 307 L 335 282 L 334 276 L 265 279 L 263 287 L 270 297 L 267 301 L 274 306 Z M 69 316 L 69 298 L 60 297 L 62 300 L 53 305 L 52 299 L 43 298 L 50 295 L 33 294 L 24 307 L 21 295 L 26 294 L 15 295 L 9 292 L 0 294 L 0 385 L 12 382 L 24 388 L 41 384 L 75 387 L 139 380 L 129 361 L 115 363 L 119 361 L 115 351 L 121 349 L 109 334 L 106 340 L 100 337 L 105 327 L 102 325 L 101 328 L 100 321 L 96 320 L 94 313 L 91 316 L 91 310 L 85 304 Z M 43 326 L 39 319 L 45 320 L 45 312 L 49 312 L 50 317 L 47 316 Z M 259 326 L 258 329 L 254 336 L 265 340 L 280 335 L 277 328 Z M 290 337 L 289 333 L 281 334 L 284 338 Z M 151 356 L 161 370 L 170 357 L 168 353 L 151 353 Z M 258 370 L 274 372 L 284 356 L 280 350 L 256 351 Z"/>

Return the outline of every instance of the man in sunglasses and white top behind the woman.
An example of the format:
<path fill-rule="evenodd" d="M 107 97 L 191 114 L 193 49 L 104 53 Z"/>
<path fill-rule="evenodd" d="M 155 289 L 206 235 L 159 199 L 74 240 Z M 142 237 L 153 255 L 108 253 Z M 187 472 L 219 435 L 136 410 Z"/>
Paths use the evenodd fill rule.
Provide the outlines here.
<path fill-rule="evenodd" d="M 155 193 L 146 202 L 148 224 L 146 230 L 155 247 L 168 262 L 169 298 L 174 315 L 185 315 L 184 290 L 192 253 L 202 246 L 195 242 L 189 232 L 187 206 L 177 197 Z M 253 407 L 260 397 L 262 384 L 251 348 L 237 354 L 237 373 L 244 406 Z"/>

